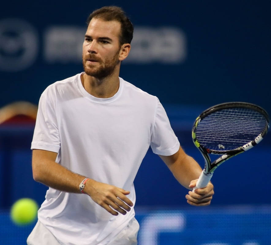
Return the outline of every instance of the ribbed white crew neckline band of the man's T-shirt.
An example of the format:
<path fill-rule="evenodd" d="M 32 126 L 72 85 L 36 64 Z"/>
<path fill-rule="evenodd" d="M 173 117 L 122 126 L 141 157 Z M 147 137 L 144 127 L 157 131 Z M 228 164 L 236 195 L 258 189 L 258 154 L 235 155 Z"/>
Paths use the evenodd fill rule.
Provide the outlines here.
<path fill-rule="evenodd" d="M 113 95 L 112 97 L 110 98 L 97 98 L 91 94 L 89 94 L 85 88 L 83 87 L 83 84 L 82 84 L 82 81 L 81 81 L 81 75 L 82 74 L 85 74 L 85 72 L 81 72 L 77 75 L 77 78 L 76 78 L 76 82 L 77 82 L 77 86 L 80 90 L 80 92 L 82 93 L 82 95 L 91 100 L 92 102 L 95 102 L 95 103 L 99 103 L 99 104 L 108 104 L 108 103 L 112 103 L 113 101 L 115 101 L 116 99 L 119 98 L 119 96 L 121 95 L 122 93 L 122 89 L 123 89 L 123 79 L 121 77 L 119 77 L 119 89 L 118 91 L 115 93 L 115 95 Z"/>

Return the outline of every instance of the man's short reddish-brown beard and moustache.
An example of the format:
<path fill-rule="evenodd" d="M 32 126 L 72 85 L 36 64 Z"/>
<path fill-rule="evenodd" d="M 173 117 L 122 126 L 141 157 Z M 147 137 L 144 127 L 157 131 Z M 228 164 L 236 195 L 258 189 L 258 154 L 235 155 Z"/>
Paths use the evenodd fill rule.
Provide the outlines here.
<path fill-rule="evenodd" d="M 89 67 L 86 64 L 86 62 L 87 60 L 92 60 L 92 59 L 96 60 L 97 63 L 100 64 L 100 66 L 97 68 Z M 83 55 L 83 68 L 84 68 L 85 73 L 88 76 L 93 76 L 97 79 L 103 79 L 111 75 L 118 63 L 119 63 L 119 50 L 115 53 L 115 55 L 112 58 L 108 58 L 104 62 L 93 54 L 86 55 L 85 57 Z"/>

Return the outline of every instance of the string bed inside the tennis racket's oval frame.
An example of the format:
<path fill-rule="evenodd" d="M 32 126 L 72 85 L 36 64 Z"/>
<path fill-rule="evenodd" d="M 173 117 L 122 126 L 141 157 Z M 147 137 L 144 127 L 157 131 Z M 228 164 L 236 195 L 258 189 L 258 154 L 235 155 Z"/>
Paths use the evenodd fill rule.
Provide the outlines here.
<path fill-rule="evenodd" d="M 254 140 L 265 129 L 266 123 L 265 116 L 252 109 L 222 109 L 199 122 L 196 138 L 210 150 L 233 150 Z"/>

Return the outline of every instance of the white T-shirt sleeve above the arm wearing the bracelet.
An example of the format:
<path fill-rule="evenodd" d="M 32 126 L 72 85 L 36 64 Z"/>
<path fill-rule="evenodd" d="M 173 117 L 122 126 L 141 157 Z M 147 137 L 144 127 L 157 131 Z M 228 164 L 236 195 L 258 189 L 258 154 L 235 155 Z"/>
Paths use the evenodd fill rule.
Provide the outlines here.
<path fill-rule="evenodd" d="M 48 88 L 40 96 L 31 149 L 48 150 L 58 153 L 60 139 L 55 103 L 53 101 L 54 96 L 50 96 Z"/>

